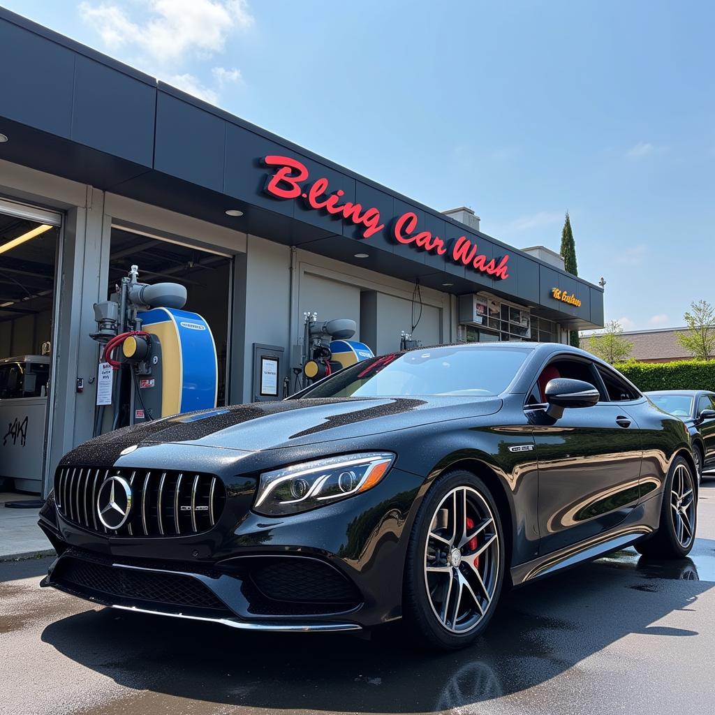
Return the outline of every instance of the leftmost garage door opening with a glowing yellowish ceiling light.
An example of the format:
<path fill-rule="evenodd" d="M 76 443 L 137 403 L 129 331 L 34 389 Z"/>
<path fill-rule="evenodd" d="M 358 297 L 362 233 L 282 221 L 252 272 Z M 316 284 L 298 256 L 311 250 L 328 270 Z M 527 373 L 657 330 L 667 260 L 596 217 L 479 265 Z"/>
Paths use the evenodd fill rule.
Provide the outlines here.
<path fill-rule="evenodd" d="M 0 490 L 42 491 L 60 220 L 0 200 Z"/>

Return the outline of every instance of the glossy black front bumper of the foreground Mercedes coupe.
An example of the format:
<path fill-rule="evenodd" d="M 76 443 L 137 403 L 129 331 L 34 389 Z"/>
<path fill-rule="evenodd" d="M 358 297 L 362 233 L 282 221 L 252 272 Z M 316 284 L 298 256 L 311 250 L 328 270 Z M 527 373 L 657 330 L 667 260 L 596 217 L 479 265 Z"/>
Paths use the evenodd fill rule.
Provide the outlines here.
<path fill-rule="evenodd" d="M 218 473 L 227 486 L 235 483 Z M 250 511 L 253 493 L 244 489 L 227 498 L 214 528 L 169 538 L 96 533 L 67 521 L 49 500 L 39 526 L 59 558 L 41 585 L 104 606 L 251 630 L 377 625 L 402 615 L 405 553 L 423 483 L 393 467 L 368 492 L 286 518 Z M 154 593 L 162 581 L 178 596 Z M 183 598 L 184 587 L 199 589 L 205 603 Z"/>

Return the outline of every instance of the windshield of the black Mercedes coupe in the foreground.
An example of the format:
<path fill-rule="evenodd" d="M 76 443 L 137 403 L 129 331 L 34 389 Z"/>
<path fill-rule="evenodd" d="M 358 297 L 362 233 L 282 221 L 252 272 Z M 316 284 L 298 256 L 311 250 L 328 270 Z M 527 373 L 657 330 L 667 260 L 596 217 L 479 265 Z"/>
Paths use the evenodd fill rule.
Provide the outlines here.
<path fill-rule="evenodd" d="M 529 352 L 514 347 L 477 346 L 395 352 L 341 370 L 302 396 L 498 395 L 511 383 Z"/>

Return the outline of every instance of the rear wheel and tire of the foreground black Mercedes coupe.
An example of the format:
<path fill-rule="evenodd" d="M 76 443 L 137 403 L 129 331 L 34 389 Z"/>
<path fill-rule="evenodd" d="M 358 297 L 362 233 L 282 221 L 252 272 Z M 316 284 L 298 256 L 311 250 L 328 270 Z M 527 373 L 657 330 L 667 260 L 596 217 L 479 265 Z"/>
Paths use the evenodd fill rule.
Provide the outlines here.
<path fill-rule="evenodd" d="M 693 470 L 676 457 L 668 470 L 663 490 L 658 531 L 635 544 L 636 551 L 653 558 L 684 558 L 695 543 L 697 490 Z"/>

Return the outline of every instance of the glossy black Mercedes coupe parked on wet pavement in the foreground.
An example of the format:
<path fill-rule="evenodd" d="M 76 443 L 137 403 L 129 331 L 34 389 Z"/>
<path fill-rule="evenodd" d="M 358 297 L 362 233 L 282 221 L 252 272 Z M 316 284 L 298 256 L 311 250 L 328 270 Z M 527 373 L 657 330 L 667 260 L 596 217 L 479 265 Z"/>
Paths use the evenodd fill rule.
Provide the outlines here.
<path fill-rule="evenodd" d="M 403 618 L 458 648 L 520 586 L 693 546 L 683 421 L 568 345 L 418 347 L 282 402 L 177 415 L 61 460 L 42 586 L 259 631 Z"/>

